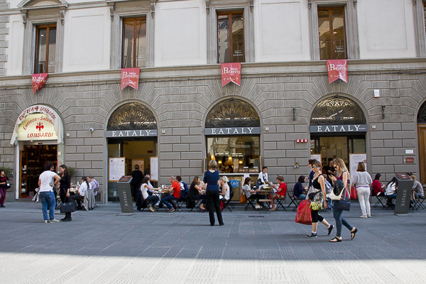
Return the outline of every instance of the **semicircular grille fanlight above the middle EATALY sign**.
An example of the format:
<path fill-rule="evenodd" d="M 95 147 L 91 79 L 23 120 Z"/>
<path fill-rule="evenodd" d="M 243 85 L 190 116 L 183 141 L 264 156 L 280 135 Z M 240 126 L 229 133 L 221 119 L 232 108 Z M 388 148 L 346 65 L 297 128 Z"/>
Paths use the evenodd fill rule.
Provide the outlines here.
<path fill-rule="evenodd" d="M 256 109 L 241 99 L 226 99 L 207 114 L 206 127 L 261 126 Z"/>

